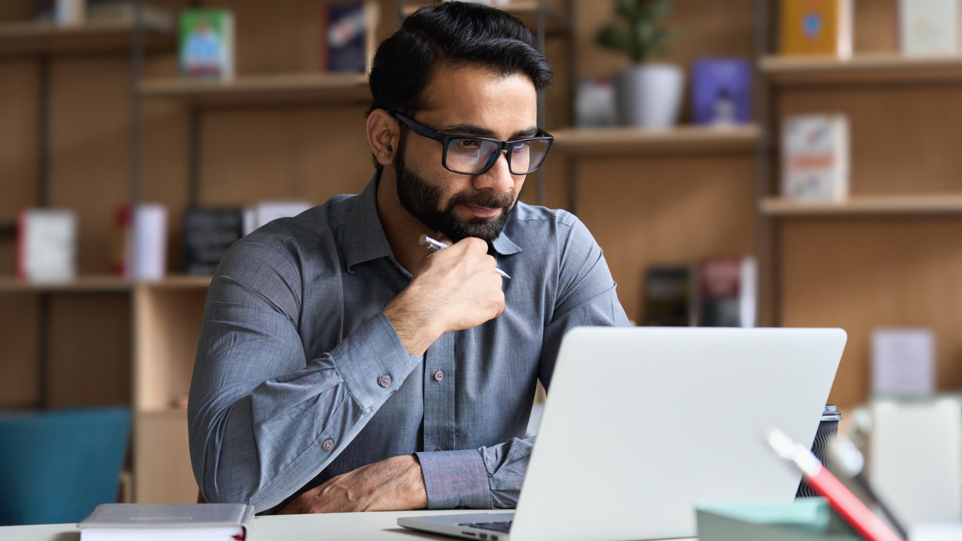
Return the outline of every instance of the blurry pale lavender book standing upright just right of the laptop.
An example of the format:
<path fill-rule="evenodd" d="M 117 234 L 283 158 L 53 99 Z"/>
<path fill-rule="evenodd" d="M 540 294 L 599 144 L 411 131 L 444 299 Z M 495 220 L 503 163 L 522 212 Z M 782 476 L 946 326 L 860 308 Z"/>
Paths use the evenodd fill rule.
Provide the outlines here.
<path fill-rule="evenodd" d="M 935 392 L 935 333 L 929 328 L 876 328 L 872 392 L 929 396 Z"/>

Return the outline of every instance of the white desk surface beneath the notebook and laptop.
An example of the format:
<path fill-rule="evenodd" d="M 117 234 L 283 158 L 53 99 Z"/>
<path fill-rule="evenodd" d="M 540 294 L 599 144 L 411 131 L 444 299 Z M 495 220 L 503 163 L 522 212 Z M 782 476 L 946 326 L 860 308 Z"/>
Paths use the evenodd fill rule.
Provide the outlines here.
<path fill-rule="evenodd" d="M 333 513 L 255 517 L 249 541 L 451 541 L 453 537 L 420 533 L 397 526 L 398 517 L 484 512 L 475 509 L 446 511 L 390 511 L 384 513 Z M 75 524 L 0 527 L 2 541 L 78 541 Z"/>

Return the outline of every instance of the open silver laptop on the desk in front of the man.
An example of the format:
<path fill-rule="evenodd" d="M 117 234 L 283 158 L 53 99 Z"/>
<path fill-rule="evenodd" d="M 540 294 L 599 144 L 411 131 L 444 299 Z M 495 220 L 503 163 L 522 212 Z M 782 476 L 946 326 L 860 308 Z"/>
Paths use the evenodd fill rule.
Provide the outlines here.
<path fill-rule="evenodd" d="M 763 443 L 811 442 L 841 329 L 579 327 L 564 338 L 518 509 L 401 518 L 482 541 L 696 535 L 697 502 L 792 500 Z"/>

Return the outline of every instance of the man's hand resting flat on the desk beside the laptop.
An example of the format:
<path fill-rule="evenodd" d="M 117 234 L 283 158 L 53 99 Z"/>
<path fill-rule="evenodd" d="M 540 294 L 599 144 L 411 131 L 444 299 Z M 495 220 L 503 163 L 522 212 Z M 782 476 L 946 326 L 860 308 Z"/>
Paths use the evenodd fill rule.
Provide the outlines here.
<path fill-rule="evenodd" d="M 393 456 L 331 477 L 297 497 L 279 514 L 406 511 L 427 507 L 427 491 L 418 459 Z"/>

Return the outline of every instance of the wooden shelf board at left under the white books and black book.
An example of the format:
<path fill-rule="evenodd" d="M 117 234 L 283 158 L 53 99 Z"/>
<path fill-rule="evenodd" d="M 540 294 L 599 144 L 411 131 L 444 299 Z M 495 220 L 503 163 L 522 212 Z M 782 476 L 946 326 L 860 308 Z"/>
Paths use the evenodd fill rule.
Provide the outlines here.
<path fill-rule="evenodd" d="M 28 282 L 15 276 L 0 277 L 0 293 L 125 293 L 134 285 L 169 289 L 199 289 L 211 285 L 211 276 L 172 274 L 156 282 L 133 282 L 114 274 L 88 274 L 63 282 Z"/>

